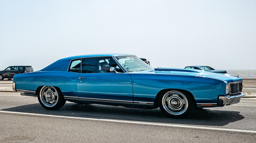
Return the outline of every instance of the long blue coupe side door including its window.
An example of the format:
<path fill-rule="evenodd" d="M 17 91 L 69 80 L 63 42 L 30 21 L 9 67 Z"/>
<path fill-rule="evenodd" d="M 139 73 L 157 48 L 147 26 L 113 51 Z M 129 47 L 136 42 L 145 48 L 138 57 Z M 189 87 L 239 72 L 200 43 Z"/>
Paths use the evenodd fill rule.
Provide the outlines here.
<path fill-rule="evenodd" d="M 103 72 L 101 63 L 107 62 L 105 67 L 109 67 L 109 63 L 113 61 L 112 57 L 82 59 L 82 73 L 77 77 L 77 92 L 80 99 L 133 102 L 132 81 L 129 73 L 116 73 L 109 70 Z"/>

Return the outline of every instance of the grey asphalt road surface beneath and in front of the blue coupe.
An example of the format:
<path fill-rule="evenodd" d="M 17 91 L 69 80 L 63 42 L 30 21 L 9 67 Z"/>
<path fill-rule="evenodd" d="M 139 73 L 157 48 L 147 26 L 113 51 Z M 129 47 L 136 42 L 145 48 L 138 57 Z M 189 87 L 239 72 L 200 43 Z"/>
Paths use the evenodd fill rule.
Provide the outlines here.
<path fill-rule="evenodd" d="M 194 110 L 182 119 L 157 109 L 66 102 L 46 110 L 37 97 L 0 92 L 0 142 L 255 142 L 256 103 Z"/>

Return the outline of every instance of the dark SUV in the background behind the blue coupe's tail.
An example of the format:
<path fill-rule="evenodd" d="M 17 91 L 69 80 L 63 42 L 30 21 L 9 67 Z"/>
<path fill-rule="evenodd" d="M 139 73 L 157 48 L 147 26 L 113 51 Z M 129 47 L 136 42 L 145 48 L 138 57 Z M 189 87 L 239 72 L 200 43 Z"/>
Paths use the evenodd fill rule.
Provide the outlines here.
<path fill-rule="evenodd" d="M 8 78 L 11 80 L 15 74 L 27 73 L 34 71 L 31 66 L 10 66 L 3 71 L 0 71 L 0 80 Z"/>

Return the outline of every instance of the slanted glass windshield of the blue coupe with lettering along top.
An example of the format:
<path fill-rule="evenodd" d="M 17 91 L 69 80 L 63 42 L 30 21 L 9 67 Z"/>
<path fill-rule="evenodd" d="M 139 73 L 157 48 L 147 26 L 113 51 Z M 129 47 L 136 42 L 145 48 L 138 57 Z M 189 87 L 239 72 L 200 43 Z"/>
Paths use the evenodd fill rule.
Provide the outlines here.
<path fill-rule="evenodd" d="M 152 70 L 153 68 L 139 59 L 137 56 L 118 56 L 118 62 L 128 71 L 145 71 Z"/>

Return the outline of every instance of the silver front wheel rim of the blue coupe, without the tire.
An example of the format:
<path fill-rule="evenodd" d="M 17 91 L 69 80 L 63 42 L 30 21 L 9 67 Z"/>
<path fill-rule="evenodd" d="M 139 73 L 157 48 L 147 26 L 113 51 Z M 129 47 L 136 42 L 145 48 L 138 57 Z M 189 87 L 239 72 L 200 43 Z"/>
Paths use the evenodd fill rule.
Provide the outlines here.
<path fill-rule="evenodd" d="M 181 115 L 188 108 L 188 101 L 179 91 L 169 91 L 163 95 L 162 105 L 165 111 L 172 115 Z"/>

